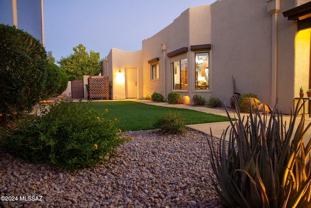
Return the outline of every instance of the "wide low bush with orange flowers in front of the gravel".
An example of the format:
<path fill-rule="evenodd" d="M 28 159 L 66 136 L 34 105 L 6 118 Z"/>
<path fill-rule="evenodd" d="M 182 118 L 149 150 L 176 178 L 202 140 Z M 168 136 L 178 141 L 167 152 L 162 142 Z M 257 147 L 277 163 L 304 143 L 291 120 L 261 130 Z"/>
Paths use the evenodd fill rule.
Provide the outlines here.
<path fill-rule="evenodd" d="M 16 128 L 2 131 L 2 145 L 29 162 L 68 170 L 94 166 L 127 139 L 115 127 L 118 120 L 106 120 L 104 115 L 94 111 L 90 102 L 56 101 L 49 111 L 43 106 Z"/>

